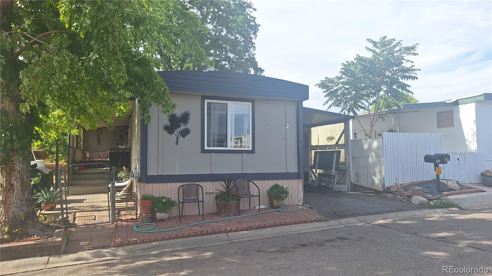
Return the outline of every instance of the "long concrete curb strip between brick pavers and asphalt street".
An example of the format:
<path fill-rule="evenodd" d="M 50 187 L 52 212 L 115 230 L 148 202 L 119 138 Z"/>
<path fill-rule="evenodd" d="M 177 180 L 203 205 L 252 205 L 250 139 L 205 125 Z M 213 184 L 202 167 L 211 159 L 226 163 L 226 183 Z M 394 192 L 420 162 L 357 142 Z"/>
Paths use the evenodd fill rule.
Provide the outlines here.
<path fill-rule="evenodd" d="M 395 219 L 429 216 L 445 214 L 450 212 L 460 212 L 458 208 L 446 209 L 421 209 L 407 212 L 397 212 L 381 215 L 361 216 L 354 218 L 339 219 L 333 221 L 310 222 L 304 224 L 286 225 L 273 228 L 264 228 L 242 232 L 232 232 L 201 237 L 190 237 L 184 239 L 165 240 L 148 244 L 138 244 L 131 247 L 107 248 L 73 254 L 59 254 L 44 257 L 26 258 L 12 261 L 1 262 L 1 275 L 10 275 L 21 272 L 37 271 L 56 267 L 89 264 L 116 260 L 120 258 L 131 258 L 166 251 L 183 250 L 188 248 L 200 248 L 205 246 L 237 243 L 241 241 L 254 240 L 260 238 L 288 235 L 295 233 L 305 233 L 320 230 L 327 230 L 349 225 L 366 224 L 373 222 L 392 221 Z"/>

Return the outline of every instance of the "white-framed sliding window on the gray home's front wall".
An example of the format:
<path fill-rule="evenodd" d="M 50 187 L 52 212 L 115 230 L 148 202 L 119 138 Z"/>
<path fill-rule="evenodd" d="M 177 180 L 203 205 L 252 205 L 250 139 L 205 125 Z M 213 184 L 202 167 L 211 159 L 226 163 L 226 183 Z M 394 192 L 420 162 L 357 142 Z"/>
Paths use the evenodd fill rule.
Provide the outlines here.
<path fill-rule="evenodd" d="M 205 100 L 205 144 L 208 150 L 252 150 L 251 102 Z"/>

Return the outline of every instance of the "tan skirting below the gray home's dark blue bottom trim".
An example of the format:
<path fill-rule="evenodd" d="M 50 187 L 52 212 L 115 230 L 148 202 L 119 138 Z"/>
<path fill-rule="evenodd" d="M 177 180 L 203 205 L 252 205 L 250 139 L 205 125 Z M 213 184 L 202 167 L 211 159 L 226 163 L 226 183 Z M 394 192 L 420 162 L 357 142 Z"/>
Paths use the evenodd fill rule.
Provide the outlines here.
<path fill-rule="evenodd" d="M 303 201 L 303 182 L 302 179 L 286 179 L 286 180 L 253 180 L 256 185 L 260 188 L 260 205 L 268 205 L 268 195 L 267 190 L 275 183 L 278 183 L 289 189 L 289 196 L 285 199 L 287 204 L 295 204 Z M 216 212 L 215 207 L 215 189 L 219 187 L 217 182 L 196 182 L 203 186 L 204 192 L 204 208 L 205 213 Z M 144 193 L 150 193 L 153 195 L 165 195 L 171 197 L 172 199 L 178 201 L 178 187 L 186 183 L 139 183 L 138 184 L 138 194 L 142 195 Z M 253 186 L 251 184 L 251 186 Z M 251 187 L 251 192 L 256 194 L 256 187 Z M 251 208 L 258 206 L 258 198 L 251 198 Z M 139 204 L 140 208 L 140 204 Z M 200 211 L 202 209 L 202 204 L 200 203 Z M 241 209 L 248 209 L 248 199 L 241 199 Z M 196 203 L 186 203 L 184 204 L 184 215 L 195 215 L 198 214 L 198 208 Z M 178 206 L 171 210 L 170 216 L 178 216 Z"/>

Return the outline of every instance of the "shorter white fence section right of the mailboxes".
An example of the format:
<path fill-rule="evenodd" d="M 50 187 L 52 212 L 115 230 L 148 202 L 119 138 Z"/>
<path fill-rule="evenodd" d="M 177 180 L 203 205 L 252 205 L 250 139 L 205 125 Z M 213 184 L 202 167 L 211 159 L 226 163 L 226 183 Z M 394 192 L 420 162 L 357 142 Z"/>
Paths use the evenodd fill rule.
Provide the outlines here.
<path fill-rule="evenodd" d="M 485 152 L 448 152 L 450 162 L 442 165 L 443 179 L 460 183 L 482 183 L 480 172 L 486 169 Z"/>

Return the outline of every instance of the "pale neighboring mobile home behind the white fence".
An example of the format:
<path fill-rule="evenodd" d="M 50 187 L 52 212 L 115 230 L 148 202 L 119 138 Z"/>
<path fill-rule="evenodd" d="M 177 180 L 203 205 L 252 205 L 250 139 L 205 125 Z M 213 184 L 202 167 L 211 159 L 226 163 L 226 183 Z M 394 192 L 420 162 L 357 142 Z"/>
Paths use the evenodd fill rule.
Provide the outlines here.
<path fill-rule="evenodd" d="M 441 133 L 444 152 L 485 152 L 492 167 L 492 93 L 463 98 L 402 105 L 401 111 L 389 110 L 385 120 L 378 120 L 372 138 L 382 137 L 383 132 Z M 358 116 L 366 130 L 367 114 Z M 365 133 L 357 120 L 352 120 L 353 139 L 363 139 Z"/>

